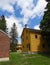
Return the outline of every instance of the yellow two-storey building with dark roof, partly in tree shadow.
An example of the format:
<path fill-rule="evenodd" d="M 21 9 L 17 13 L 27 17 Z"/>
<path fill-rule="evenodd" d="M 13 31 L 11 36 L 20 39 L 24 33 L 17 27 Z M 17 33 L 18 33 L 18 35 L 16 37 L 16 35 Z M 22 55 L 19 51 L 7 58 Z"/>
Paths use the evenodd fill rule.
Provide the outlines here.
<path fill-rule="evenodd" d="M 22 52 L 48 52 L 47 44 L 42 39 L 40 30 L 24 28 L 21 39 Z"/>

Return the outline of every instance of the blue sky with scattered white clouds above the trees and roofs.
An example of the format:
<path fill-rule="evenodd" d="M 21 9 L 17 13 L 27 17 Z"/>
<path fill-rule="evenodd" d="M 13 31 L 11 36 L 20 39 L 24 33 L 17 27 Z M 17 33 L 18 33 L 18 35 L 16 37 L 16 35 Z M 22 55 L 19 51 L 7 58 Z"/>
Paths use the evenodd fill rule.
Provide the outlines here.
<path fill-rule="evenodd" d="M 16 23 L 20 37 L 25 24 L 29 28 L 39 29 L 46 5 L 45 0 L 0 0 L 0 16 L 5 15 L 9 32 Z"/>

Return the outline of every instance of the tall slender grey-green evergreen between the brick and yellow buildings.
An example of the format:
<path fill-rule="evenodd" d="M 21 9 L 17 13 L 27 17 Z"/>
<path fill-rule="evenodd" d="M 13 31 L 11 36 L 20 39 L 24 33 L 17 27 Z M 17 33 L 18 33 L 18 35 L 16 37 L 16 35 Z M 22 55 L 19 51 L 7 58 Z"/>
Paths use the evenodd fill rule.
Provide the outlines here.
<path fill-rule="evenodd" d="M 11 41 L 12 41 L 11 42 L 11 50 L 16 51 L 16 46 L 18 43 L 18 40 L 17 40 L 18 34 L 17 34 L 17 27 L 16 27 L 15 23 L 13 24 L 13 26 L 11 28 L 10 36 L 11 36 Z"/>

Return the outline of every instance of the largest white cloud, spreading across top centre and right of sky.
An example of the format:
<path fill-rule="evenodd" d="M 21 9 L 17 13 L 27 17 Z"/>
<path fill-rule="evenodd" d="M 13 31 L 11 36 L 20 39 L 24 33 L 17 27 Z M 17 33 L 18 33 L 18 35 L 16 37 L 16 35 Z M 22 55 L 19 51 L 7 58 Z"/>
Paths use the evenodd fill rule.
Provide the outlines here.
<path fill-rule="evenodd" d="M 44 8 L 47 5 L 45 0 L 38 0 L 36 6 L 33 0 L 17 0 L 17 5 L 22 9 L 21 14 L 24 15 L 22 21 L 27 24 L 29 18 L 41 16 L 44 14 Z"/>

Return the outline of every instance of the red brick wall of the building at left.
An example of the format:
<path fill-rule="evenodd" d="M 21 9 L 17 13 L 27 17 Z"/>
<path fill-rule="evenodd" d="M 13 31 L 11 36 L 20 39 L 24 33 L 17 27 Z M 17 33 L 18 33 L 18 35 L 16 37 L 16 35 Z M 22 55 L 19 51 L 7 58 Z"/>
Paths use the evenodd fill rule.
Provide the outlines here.
<path fill-rule="evenodd" d="M 9 57 L 9 50 L 10 50 L 10 39 L 6 34 L 0 32 L 0 58 Z"/>

